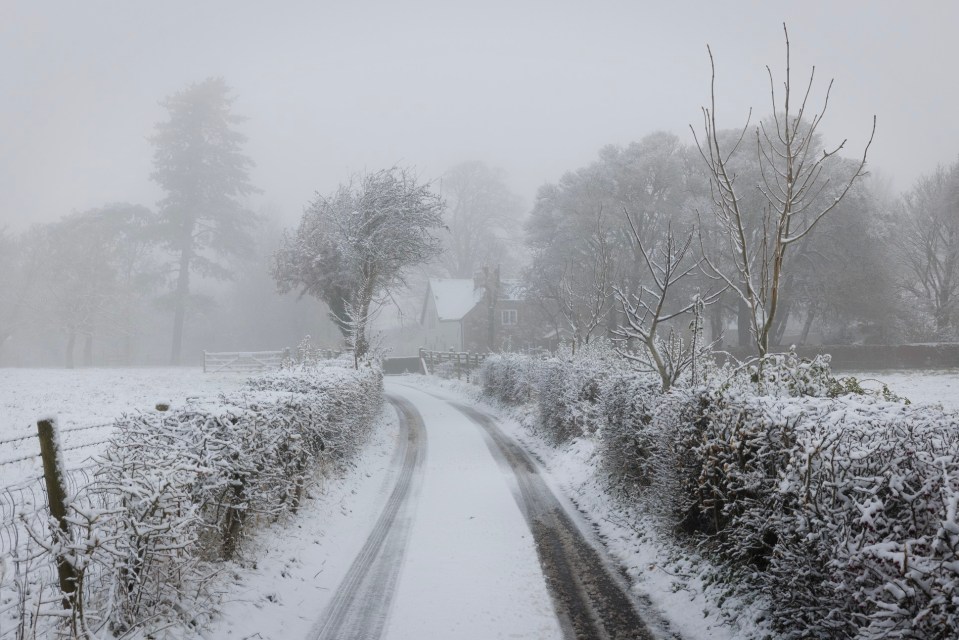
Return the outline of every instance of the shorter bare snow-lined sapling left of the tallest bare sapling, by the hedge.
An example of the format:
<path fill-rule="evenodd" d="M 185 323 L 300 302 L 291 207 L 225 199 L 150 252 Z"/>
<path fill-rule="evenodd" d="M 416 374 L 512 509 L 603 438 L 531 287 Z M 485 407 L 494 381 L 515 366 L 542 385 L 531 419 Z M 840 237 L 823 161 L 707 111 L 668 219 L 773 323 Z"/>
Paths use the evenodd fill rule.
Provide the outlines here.
<path fill-rule="evenodd" d="M 628 212 L 626 220 L 652 284 L 641 286 L 636 294 L 615 287 L 625 319 L 625 325 L 616 332 L 625 342 L 618 351 L 641 369 L 658 374 L 665 392 L 693 366 L 704 350 L 705 345 L 701 342 L 702 311 L 705 305 L 715 302 L 722 291 L 706 296 L 696 293 L 688 297 L 685 304 L 674 305 L 672 300 L 680 282 L 696 272 L 700 265 L 698 260 L 690 262 L 688 266 L 686 264 L 695 231 L 677 238 L 672 227 L 667 226 L 665 238 L 657 246 L 647 249 Z M 694 312 L 696 319 L 689 340 L 685 340 L 675 327 L 667 324 L 679 316 Z M 668 329 L 665 336 L 660 331 L 664 325 Z M 697 343 L 697 340 L 700 342 Z M 630 349 L 631 341 L 638 341 L 642 348 L 638 351 Z"/>

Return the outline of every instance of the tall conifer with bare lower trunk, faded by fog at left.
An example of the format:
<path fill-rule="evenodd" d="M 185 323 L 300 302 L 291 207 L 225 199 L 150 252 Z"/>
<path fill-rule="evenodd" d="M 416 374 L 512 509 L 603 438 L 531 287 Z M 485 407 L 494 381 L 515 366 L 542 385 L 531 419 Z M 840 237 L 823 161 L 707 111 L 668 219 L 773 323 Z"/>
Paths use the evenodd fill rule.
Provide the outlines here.
<path fill-rule="evenodd" d="M 152 178 L 166 191 L 159 202 L 158 240 L 173 255 L 173 346 L 171 364 L 180 364 L 183 324 L 190 300 L 190 276 L 228 279 L 223 259 L 252 247 L 255 216 L 245 206 L 255 193 L 252 160 L 242 152 L 246 136 L 233 126 L 234 98 L 222 78 L 191 84 L 161 104 L 169 120 L 156 125 Z"/>

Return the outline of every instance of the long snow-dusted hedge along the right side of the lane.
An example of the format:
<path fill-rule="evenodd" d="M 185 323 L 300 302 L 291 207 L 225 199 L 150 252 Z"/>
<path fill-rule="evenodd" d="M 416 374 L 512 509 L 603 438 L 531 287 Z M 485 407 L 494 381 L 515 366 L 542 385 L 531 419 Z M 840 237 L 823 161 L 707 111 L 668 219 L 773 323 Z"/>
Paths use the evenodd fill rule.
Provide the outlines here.
<path fill-rule="evenodd" d="M 595 439 L 611 489 L 762 593 L 782 637 L 959 637 L 956 415 L 794 355 L 666 395 L 601 351 L 491 358 L 485 392 L 517 387 L 545 440 Z"/>

